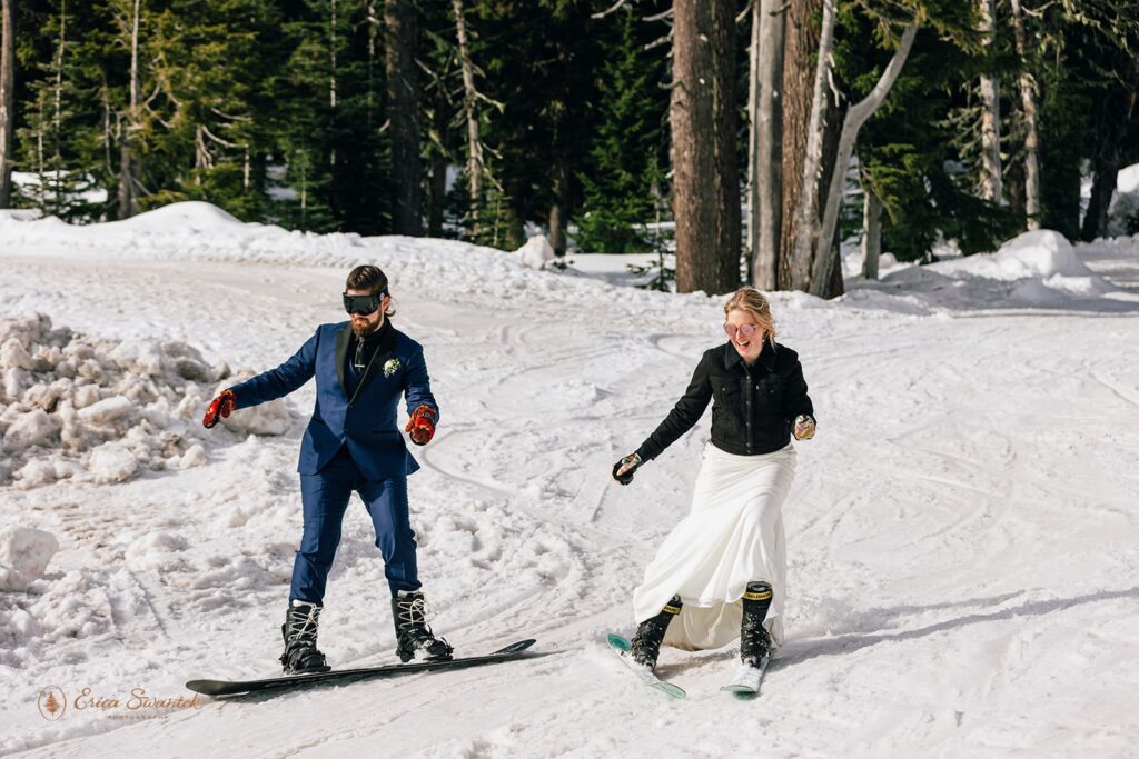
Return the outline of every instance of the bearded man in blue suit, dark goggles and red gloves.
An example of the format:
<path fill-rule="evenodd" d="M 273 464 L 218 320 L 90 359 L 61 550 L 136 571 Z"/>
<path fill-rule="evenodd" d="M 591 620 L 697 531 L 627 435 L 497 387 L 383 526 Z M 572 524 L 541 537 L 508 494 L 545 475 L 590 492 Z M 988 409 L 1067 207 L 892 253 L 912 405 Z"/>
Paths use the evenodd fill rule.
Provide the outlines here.
<path fill-rule="evenodd" d="M 408 518 L 408 475 L 419 464 L 395 419 L 403 395 L 410 416 L 404 431 L 411 442 L 426 445 L 435 434 L 439 404 L 423 346 L 392 324 L 387 277 L 376 266 L 353 269 L 343 298 L 350 321 L 318 327 L 284 364 L 223 390 L 203 420 L 211 428 L 235 410 L 280 398 L 317 378 L 317 404 L 297 467 L 304 535 L 281 626 L 281 665 L 290 675 L 329 669 L 317 649 L 317 627 L 352 490 L 360 494 L 376 528 L 400 660 L 437 661 L 450 659 L 452 651 L 425 619 L 416 536 Z"/>

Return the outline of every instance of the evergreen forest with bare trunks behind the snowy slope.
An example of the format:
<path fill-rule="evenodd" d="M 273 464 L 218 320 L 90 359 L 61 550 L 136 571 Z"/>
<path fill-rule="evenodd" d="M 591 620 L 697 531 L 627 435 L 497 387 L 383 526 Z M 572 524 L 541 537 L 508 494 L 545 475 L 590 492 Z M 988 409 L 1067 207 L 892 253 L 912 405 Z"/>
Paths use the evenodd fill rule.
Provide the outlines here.
<path fill-rule="evenodd" d="M 674 250 L 682 292 L 834 297 L 844 239 L 875 277 L 879 251 L 1103 237 L 1139 160 L 1129 2 L 2 0 L 2 19 L 0 207 L 73 223 L 205 200 L 503 250 L 536 226 L 558 256 Z"/>

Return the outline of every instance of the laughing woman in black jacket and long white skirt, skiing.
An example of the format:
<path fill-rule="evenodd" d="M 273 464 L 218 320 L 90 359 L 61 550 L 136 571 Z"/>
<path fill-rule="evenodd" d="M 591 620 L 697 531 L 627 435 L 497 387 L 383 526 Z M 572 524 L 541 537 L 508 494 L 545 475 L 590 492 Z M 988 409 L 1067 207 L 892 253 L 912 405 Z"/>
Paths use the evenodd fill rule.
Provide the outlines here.
<path fill-rule="evenodd" d="M 744 288 L 724 305 L 728 343 L 704 353 L 688 390 L 641 446 L 613 467 L 622 485 L 712 405 L 693 508 L 633 592 L 630 655 L 654 669 L 662 643 L 686 651 L 740 638 L 759 668 L 782 642 L 787 556 L 781 506 L 795 477 L 790 437 L 814 436 L 798 354 L 776 343 L 771 306 Z"/>

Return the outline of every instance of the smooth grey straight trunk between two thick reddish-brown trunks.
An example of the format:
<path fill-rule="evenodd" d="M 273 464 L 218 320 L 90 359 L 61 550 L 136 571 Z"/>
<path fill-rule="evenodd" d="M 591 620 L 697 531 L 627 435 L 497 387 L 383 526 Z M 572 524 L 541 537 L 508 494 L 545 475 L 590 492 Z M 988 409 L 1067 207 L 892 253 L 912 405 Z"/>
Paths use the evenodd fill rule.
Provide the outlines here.
<path fill-rule="evenodd" d="M 748 250 L 752 281 L 761 290 L 779 282 L 779 234 L 782 226 L 782 61 L 787 9 L 777 0 L 753 0 L 752 109 L 753 172 L 748 196 Z M 754 215 L 754 221 L 753 221 Z"/>

